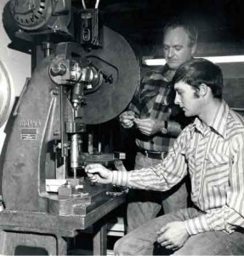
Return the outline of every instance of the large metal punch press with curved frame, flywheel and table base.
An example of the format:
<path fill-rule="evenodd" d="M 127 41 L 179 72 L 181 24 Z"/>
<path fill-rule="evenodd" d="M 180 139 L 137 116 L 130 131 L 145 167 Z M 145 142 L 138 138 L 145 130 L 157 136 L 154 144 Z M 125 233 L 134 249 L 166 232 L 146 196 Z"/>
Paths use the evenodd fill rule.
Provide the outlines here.
<path fill-rule="evenodd" d="M 64 3 L 63 9 L 58 6 L 60 15 L 67 15 L 71 2 Z M 62 17 L 55 20 L 55 16 L 49 17 L 50 26 L 37 28 L 41 32 L 25 26 L 26 31 L 16 33 L 34 44 L 42 37 L 55 42 L 45 41 L 54 48 L 46 48 L 46 57 L 37 63 L 10 118 L 11 126 L 6 127 L 1 254 L 14 254 L 21 246 L 66 254 L 70 238 L 94 225 L 94 254 L 103 255 L 105 216 L 125 201 L 123 190 L 116 196 L 107 193 L 111 186 L 90 184 L 77 171 L 82 173 L 90 162 L 108 164 L 117 159 L 114 154 L 83 152 L 82 134 L 87 124 L 103 123 L 126 108 L 139 82 L 137 59 L 127 41 L 111 29 L 102 26 L 101 41 L 91 37 L 81 46 L 60 22 Z M 99 31 L 93 22 L 88 28 Z M 70 42 L 62 42 L 64 32 Z M 65 183 L 60 183 L 58 193 L 49 192 L 48 179 Z"/>

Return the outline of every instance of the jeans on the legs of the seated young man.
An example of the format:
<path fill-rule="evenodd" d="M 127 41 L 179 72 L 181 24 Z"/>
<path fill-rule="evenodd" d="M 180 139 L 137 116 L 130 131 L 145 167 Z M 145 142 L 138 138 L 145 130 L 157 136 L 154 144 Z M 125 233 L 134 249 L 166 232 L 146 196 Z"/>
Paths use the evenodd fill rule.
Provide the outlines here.
<path fill-rule="evenodd" d="M 156 231 L 172 221 L 184 221 L 201 215 L 195 208 L 181 209 L 150 220 L 138 229 L 116 241 L 116 255 L 243 255 L 244 233 L 231 234 L 223 231 L 208 231 L 190 236 L 184 246 L 177 251 L 169 251 L 156 242 Z"/>

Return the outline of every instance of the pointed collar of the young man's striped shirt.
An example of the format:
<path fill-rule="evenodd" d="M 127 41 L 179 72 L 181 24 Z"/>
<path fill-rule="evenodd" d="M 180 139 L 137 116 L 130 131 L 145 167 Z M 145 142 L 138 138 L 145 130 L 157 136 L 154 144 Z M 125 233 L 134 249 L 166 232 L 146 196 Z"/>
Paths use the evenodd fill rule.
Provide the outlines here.
<path fill-rule="evenodd" d="M 217 113 L 215 114 L 215 117 L 213 118 L 211 125 L 208 126 L 224 138 L 226 137 L 226 125 L 229 112 L 229 106 L 226 104 L 226 102 L 222 101 Z M 196 127 L 198 131 L 201 131 L 201 133 L 203 133 L 202 123 L 199 118 L 196 117 L 193 126 Z"/>

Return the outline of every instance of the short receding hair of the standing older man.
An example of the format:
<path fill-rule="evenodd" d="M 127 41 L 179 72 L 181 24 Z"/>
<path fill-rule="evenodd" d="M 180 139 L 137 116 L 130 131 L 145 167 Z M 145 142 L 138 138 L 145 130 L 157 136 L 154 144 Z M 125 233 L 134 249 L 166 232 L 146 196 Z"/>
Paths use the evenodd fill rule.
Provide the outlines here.
<path fill-rule="evenodd" d="M 172 30 L 176 27 L 184 28 L 184 31 L 188 34 L 190 38 L 190 47 L 194 46 L 197 43 L 198 32 L 196 30 L 196 27 L 179 19 L 173 19 L 168 22 L 163 28 L 163 35 L 165 35 L 167 31 Z"/>

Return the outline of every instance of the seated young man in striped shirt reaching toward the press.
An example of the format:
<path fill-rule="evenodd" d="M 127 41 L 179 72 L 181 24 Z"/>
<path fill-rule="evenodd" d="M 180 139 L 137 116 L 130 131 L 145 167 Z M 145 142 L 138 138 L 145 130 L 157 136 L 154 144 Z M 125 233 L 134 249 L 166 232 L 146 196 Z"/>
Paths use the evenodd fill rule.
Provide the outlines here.
<path fill-rule="evenodd" d="M 162 163 L 131 172 L 94 164 L 86 172 L 94 183 L 159 191 L 190 173 L 194 207 L 141 225 L 116 242 L 115 253 L 152 255 L 159 248 L 176 255 L 244 254 L 244 119 L 222 99 L 223 75 L 210 61 L 184 63 L 173 86 L 174 102 L 185 116 L 196 119 L 184 128 Z"/>

